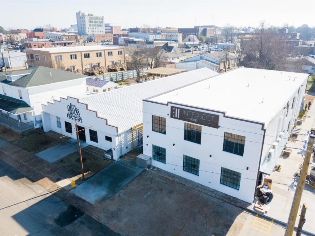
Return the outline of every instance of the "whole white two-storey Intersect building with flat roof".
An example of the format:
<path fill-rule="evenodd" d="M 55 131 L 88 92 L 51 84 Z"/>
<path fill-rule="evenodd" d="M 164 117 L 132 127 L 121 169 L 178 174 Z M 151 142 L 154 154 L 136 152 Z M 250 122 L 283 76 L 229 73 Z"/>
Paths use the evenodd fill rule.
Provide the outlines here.
<path fill-rule="evenodd" d="M 146 98 L 143 155 L 251 203 L 295 125 L 307 77 L 239 68 Z"/>

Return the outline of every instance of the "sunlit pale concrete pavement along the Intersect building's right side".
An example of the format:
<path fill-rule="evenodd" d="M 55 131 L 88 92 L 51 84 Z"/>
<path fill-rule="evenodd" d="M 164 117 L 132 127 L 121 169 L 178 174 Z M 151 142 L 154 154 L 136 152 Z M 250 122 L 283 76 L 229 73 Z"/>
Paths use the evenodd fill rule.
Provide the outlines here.
<path fill-rule="evenodd" d="M 297 125 L 297 127 L 301 128 L 301 135 L 298 135 L 296 142 L 288 141 L 286 145 L 288 148 L 292 148 L 291 155 L 289 157 L 281 156 L 278 160 L 278 164 L 281 165 L 281 171 L 273 171 L 272 174 L 267 177 L 272 179 L 272 192 L 274 194 L 274 198 L 268 204 L 270 206 L 270 210 L 265 214 L 265 216 L 284 223 L 287 223 L 288 221 L 292 200 L 295 194 L 295 191 L 292 188 L 289 188 L 288 190 L 288 186 L 294 181 L 295 173 L 299 171 L 299 167 L 303 163 L 304 152 L 300 149 L 306 147 L 304 146 L 304 142 L 301 140 L 305 140 L 305 138 L 307 138 L 305 135 L 307 131 L 310 130 L 312 126 L 315 126 L 315 105 L 311 106 L 310 110 L 307 112 L 307 116 L 310 117 L 306 117 L 302 125 Z M 303 203 L 306 203 L 307 205 L 306 222 L 303 226 L 303 230 L 310 233 L 315 233 L 315 224 L 313 221 L 315 213 L 314 194 L 315 188 L 305 185 L 300 204 L 300 206 L 303 205 Z M 253 205 L 254 204 L 250 206 L 250 210 L 253 210 Z M 301 207 L 295 223 L 296 227 L 298 225 L 300 213 Z"/>

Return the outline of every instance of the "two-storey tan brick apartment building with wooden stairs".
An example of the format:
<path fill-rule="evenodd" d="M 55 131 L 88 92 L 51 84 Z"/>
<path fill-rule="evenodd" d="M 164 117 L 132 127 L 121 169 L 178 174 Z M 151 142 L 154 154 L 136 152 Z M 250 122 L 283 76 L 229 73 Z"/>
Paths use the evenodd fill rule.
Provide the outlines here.
<path fill-rule="evenodd" d="M 80 46 L 26 49 L 30 68 L 46 66 L 78 74 L 100 74 L 127 70 L 125 49 L 111 46 Z"/>

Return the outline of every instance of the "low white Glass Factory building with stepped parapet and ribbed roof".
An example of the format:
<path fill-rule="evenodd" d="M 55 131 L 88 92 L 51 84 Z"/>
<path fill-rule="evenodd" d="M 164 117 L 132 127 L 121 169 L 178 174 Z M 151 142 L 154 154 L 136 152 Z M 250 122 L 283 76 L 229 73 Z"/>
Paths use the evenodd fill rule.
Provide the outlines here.
<path fill-rule="evenodd" d="M 87 98 L 55 99 L 43 105 L 43 129 L 68 135 L 75 131 L 77 119 L 78 129 L 87 128 L 79 138 L 100 149 L 112 149 L 113 159 L 117 160 L 132 149 L 132 143 L 134 147 L 142 143 L 141 132 L 133 131 L 133 141 L 131 135 L 132 127 L 142 123 L 142 99 L 215 75 L 216 72 L 203 68 Z M 76 138 L 76 134 L 71 137 Z"/>

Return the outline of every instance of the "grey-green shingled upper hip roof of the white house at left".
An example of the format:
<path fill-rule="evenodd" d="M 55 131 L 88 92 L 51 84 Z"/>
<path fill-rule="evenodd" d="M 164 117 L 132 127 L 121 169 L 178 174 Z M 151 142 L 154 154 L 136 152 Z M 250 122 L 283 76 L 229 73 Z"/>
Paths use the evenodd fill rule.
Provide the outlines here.
<path fill-rule="evenodd" d="M 51 73 L 51 76 L 50 76 Z M 35 67 L 32 72 L 26 76 L 21 77 L 13 82 L 10 82 L 10 85 L 19 86 L 19 87 L 33 87 L 40 86 L 44 84 L 57 83 L 62 81 L 74 80 L 78 78 L 87 77 L 85 75 L 75 74 L 65 70 L 56 70 L 49 67 L 38 66 Z"/>

